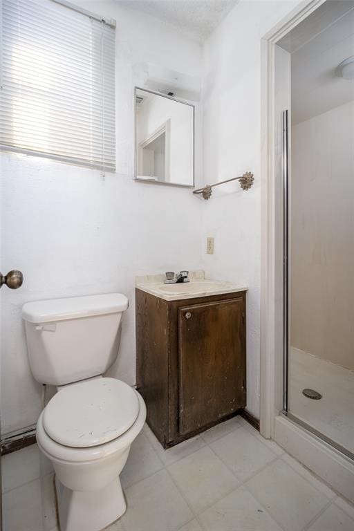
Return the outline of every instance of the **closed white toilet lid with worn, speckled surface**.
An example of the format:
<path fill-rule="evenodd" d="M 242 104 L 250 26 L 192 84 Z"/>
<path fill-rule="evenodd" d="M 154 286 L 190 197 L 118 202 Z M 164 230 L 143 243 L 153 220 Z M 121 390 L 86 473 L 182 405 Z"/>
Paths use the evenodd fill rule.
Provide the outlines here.
<path fill-rule="evenodd" d="M 139 400 L 131 387 L 115 378 L 98 378 L 65 387 L 43 414 L 46 434 L 75 448 L 108 443 L 136 421 Z"/>

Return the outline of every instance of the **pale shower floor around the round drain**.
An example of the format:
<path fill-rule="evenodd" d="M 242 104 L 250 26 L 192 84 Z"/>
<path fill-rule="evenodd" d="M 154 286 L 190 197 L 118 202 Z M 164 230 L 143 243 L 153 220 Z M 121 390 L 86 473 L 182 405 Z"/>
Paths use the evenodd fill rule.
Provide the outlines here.
<path fill-rule="evenodd" d="M 321 400 L 310 400 L 304 388 Z M 354 454 L 354 371 L 290 348 L 289 411 Z"/>

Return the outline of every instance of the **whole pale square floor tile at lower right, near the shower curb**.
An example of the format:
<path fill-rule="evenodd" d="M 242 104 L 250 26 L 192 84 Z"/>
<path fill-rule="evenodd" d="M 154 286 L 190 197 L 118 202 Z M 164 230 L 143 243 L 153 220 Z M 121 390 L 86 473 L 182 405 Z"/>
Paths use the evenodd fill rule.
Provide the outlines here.
<path fill-rule="evenodd" d="M 252 477 L 247 486 L 285 531 L 302 530 L 328 503 L 322 492 L 281 459 Z"/>

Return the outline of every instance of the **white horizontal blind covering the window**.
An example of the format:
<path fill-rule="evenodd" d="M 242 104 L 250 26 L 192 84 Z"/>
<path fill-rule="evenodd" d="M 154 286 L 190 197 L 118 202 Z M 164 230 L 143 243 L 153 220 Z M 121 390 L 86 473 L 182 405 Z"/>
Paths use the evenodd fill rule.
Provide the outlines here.
<path fill-rule="evenodd" d="M 1 147 L 114 171 L 114 28 L 50 0 L 2 15 Z"/>

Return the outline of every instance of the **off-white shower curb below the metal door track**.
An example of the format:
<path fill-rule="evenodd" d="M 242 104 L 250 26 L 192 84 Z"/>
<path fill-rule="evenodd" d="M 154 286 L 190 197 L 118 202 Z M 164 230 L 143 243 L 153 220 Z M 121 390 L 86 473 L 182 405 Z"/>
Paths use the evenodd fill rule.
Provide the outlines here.
<path fill-rule="evenodd" d="M 335 492 L 354 503 L 352 460 L 285 416 L 274 419 L 274 440 Z"/>

